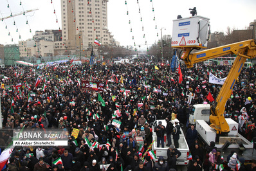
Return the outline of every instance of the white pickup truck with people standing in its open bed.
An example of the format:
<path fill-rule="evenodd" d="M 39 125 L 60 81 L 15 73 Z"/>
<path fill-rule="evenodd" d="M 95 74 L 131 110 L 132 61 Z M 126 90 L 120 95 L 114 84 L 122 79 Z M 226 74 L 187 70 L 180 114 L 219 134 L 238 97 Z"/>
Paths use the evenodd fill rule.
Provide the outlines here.
<path fill-rule="evenodd" d="M 154 150 L 154 154 L 156 154 L 156 159 L 158 159 L 160 156 L 163 156 L 163 158 L 165 160 L 167 160 L 167 150 L 169 149 L 169 147 L 165 147 L 161 148 L 157 147 L 157 138 L 156 138 L 156 132 L 154 132 L 154 127 L 156 127 L 158 125 L 158 122 L 161 121 L 162 125 L 166 127 L 167 122 L 165 120 L 156 120 L 156 122 L 154 122 L 154 125 L 152 126 L 152 140 L 154 141 L 153 145 L 152 145 L 152 150 Z M 172 140 L 172 144 L 174 144 L 173 142 L 173 138 L 171 138 Z M 165 142 L 167 143 L 167 137 L 165 134 Z M 189 156 L 189 149 L 188 149 L 188 144 L 186 141 L 186 138 L 183 134 L 183 130 L 181 129 L 181 134 L 179 134 L 179 149 L 181 152 L 181 156 L 179 156 L 179 158 L 177 159 L 176 165 L 188 165 L 188 156 Z"/>

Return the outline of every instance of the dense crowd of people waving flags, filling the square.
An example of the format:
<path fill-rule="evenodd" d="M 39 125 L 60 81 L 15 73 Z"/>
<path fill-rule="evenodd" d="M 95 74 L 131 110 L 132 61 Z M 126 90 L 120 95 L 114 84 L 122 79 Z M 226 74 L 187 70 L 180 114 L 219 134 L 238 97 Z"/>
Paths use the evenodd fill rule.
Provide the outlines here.
<path fill-rule="evenodd" d="M 206 98 L 209 92 L 214 99 L 217 97 L 221 85 L 208 83 L 208 73 L 211 71 L 224 78 L 231 66 L 197 64 L 189 69 L 181 66 L 183 81 L 179 83 L 178 71 L 170 71 L 169 65 L 151 63 L 147 65 L 141 59 L 134 64 L 72 66 L 67 62 L 1 68 L 1 147 L 7 147 L 12 141 L 12 129 L 57 128 L 69 131 L 67 148 L 14 148 L 5 169 L 97 171 L 107 166 L 106 170 L 176 170 L 176 159 L 180 155 L 179 138 L 178 135 L 172 136 L 171 132 L 178 132 L 181 128 L 167 124 L 167 127 L 160 125 L 151 129 L 156 120 L 174 123 L 172 116 L 175 116 L 174 125 L 188 128 L 186 136 L 192 154 L 188 170 L 220 170 L 214 168 L 216 163 L 224 162 L 219 150 L 214 149 L 214 145 L 207 150 L 200 147 L 196 128 L 188 124 L 188 113 L 193 104 L 210 103 Z M 254 69 L 242 69 L 224 113 L 226 118 L 239 123 L 239 133 L 249 141 L 256 137 Z M 100 82 L 104 91 L 82 89 L 81 80 Z M 98 101 L 99 95 L 104 103 Z M 116 110 L 120 115 L 114 114 Z M 120 127 L 111 124 L 114 119 L 121 122 Z M 79 130 L 77 138 L 72 136 L 73 129 Z M 151 148 L 154 131 L 160 135 L 158 147 L 161 142 L 161 147 L 168 149 L 167 161 L 160 156 L 155 162 L 145 153 Z M 167 134 L 166 145 L 163 143 L 164 134 Z M 142 136 L 143 148 L 140 148 L 136 136 Z M 73 143 L 75 140 L 77 145 Z M 91 143 L 97 141 L 103 146 L 90 148 L 87 140 Z M 62 164 L 54 165 L 59 158 Z M 234 167 L 237 161 L 241 163 L 240 170 L 256 169 L 255 161 L 244 167 L 235 152 L 225 161 L 228 162 L 226 169 L 237 169 Z"/>

